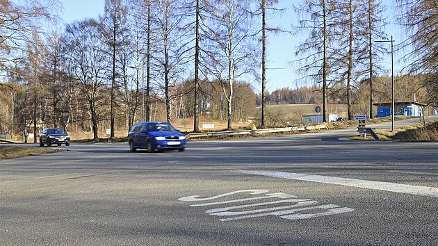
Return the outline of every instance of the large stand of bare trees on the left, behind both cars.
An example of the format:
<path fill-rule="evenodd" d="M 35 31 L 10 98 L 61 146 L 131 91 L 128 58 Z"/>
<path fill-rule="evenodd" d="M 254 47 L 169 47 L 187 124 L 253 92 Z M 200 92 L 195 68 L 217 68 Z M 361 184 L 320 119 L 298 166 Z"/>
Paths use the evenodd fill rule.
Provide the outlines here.
<path fill-rule="evenodd" d="M 33 16 L 29 23 L 57 23 L 51 15 L 56 1 L 42 2 L 6 1 L 5 12 L 17 13 L 8 21 L 21 28 L 27 22 L 19 16 L 24 12 Z M 11 51 L 2 54 L 2 75 L 9 83 L 1 83 L 1 91 L 22 95 L 13 101 L 18 109 L 13 123 L 26 135 L 29 122 L 35 133 L 40 123 L 67 128 L 73 120 L 76 126 L 90 122 L 97 140 L 99 122 L 110 122 L 113 137 L 117 122 L 129 128 L 135 121 L 153 120 L 156 105 L 164 106 L 161 120 L 168 122 L 214 109 L 211 115 L 222 119 L 225 114 L 231 129 L 248 106 L 254 108 L 251 86 L 237 79 L 257 74 L 256 11 L 252 1 L 106 0 L 98 19 L 65 28 L 56 24 L 49 33 L 32 26 L 22 33 L 26 40 L 10 31 L 2 41 L 8 44 L 2 51 Z M 9 57 L 16 59 L 6 62 Z"/>

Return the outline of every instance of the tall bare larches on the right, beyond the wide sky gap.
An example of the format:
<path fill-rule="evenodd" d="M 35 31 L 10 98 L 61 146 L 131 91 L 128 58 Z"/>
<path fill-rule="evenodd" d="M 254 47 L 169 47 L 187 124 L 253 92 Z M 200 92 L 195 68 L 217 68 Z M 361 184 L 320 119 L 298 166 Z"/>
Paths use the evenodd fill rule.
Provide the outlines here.
<path fill-rule="evenodd" d="M 400 51 L 412 50 L 404 56 L 405 74 L 425 75 L 415 90 L 428 91 L 425 101 L 437 100 L 437 11 L 436 1 L 397 0 L 398 23 L 405 26 L 407 40 Z M 324 121 L 327 120 L 327 98 L 334 90 L 346 99 L 348 117 L 352 119 L 353 90 L 368 83 L 368 112 L 373 115 L 373 102 L 381 93 L 375 78 L 385 73 L 379 66 L 388 49 L 375 41 L 388 40 L 384 33 L 387 19 L 379 0 L 309 0 L 296 6 L 301 16 L 299 30 L 310 34 L 296 51 L 302 79 L 320 84 Z M 396 10 L 393 10 L 396 12 Z M 387 46 L 390 47 L 390 46 Z M 404 49 L 403 49 L 404 48 Z M 379 99 L 379 98 L 377 98 Z"/>

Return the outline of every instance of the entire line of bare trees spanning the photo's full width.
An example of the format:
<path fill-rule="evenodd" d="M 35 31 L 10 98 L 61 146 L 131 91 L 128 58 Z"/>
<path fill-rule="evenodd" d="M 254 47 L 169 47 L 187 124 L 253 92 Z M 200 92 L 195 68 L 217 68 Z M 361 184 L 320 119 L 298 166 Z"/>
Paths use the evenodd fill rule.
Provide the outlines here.
<path fill-rule="evenodd" d="M 1 1 L 0 130 L 19 126 L 26 135 L 29 124 L 36 133 L 40 123 L 67 128 L 74 122 L 97 140 L 106 122 L 112 138 L 117 127 L 160 114 L 168 122 L 194 117 L 198 131 L 198 115 L 207 112 L 226 119 L 231 129 L 233 120 L 245 120 L 254 108 L 255 82 L 261 82 L 263 126 L 266 102 L 285 98 L 266 92 L 266 39 L 270 31 L 282 31 L 266 26 L 266 16 L 281 11 L 276 3 L 106 0 L 98 19 L 62 26 L 56 0 Z M 404 43 L 412 47 L 406 71 L 423 75 L 418 88 L 428 89 L 430 104 L 437 98 L 434 3 L 398 1 L 398 22 L 411 31 Z M 295 6 L 300 23 L 293 30 L 308 37 L 295 53 L 297 63 L 302 81 L 314 85 L 291 93 L 288 101 L 321 100 L 327 115 L 328 97 L 339 98 L 352 117 L 352 105 L 367 97 L 373 115 L 372 104 L 382 93 L 376 78 L 385 72 L 378 61 L 388 51 L 375 43 L 387 39 L 383 11 L 379 0 L 307 0 Z M 52 24 L 51 31 L 44 22 Z"/>

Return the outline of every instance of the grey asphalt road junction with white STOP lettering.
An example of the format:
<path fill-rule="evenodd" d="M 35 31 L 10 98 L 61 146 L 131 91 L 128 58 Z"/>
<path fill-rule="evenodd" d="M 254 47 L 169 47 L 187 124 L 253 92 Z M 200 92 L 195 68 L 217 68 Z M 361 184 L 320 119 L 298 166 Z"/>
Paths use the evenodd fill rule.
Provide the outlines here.
<path fill-rule="evenodd" d="M 0 245 L 438 245 L 438 142 L 352 135 L 0 161 Z"/>

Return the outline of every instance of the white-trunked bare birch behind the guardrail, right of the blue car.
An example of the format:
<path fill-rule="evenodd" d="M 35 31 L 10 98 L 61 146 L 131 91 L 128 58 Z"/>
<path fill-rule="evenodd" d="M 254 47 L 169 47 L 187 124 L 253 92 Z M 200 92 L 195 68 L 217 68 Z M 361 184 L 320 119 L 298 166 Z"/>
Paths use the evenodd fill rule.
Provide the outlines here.
<path fill-rule="evenodd" d="M 227 100 L 227 129 L 232 129 L 232 104 L 234 80 L 240 76 L 255 74 L 257 48 L 254 45 L 254 19 L 251 16 L 252 1 L 215 0 L 207 12 L 210 74 L 220 81 Z"/>

